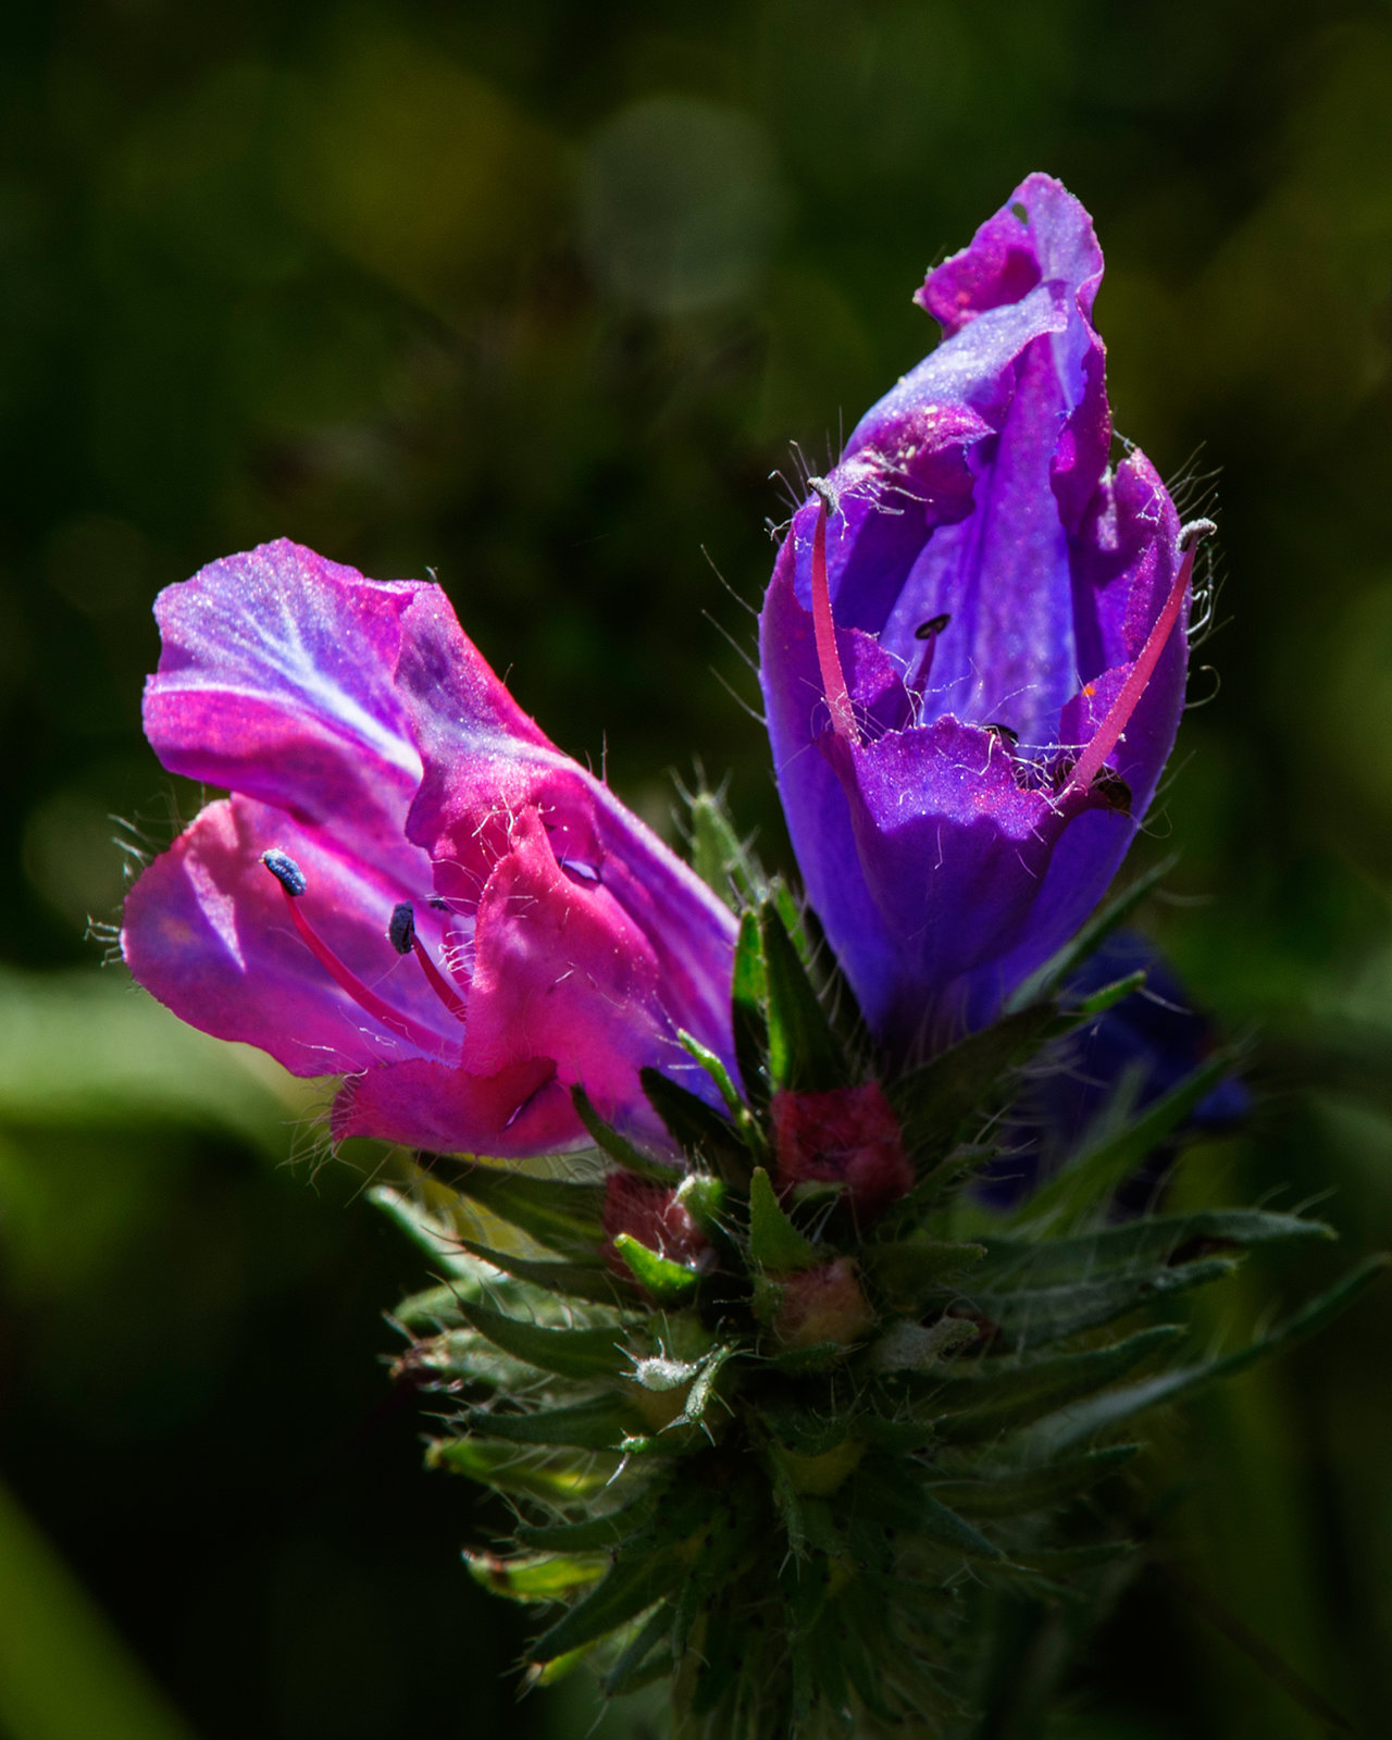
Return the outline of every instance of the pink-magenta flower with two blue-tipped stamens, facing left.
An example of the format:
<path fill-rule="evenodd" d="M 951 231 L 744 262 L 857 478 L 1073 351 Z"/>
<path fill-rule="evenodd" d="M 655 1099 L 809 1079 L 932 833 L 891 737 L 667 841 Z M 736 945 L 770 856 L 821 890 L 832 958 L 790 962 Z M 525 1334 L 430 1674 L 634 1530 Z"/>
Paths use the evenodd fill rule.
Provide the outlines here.
<path fill-rule="evenodd" d="M 228 788 L 144 872 L 122 948 L 176 1014 L 346 1075 L 336 1136 L 525 1155 L 583 1140 L 569 1088 L 661 1136 L 637 1072 L 734 1068 L 720 901 L 517 706 L 433 585 L 292 543 L 155 614 L 144 729 Z"/>

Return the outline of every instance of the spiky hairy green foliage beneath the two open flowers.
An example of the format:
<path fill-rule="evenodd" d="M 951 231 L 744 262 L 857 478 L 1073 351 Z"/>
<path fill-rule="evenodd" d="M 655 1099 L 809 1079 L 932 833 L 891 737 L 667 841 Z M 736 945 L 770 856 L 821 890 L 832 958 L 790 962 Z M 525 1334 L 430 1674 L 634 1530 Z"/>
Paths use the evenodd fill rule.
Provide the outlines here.
<path fill-rule="evenodd" d="M 1227 1058 L 1140 1110 L 1122 1084 L 1020 1209 L 971 1197 L 990 1152 L 978 1138 L 1021 1068 L 1058 1067 L 1070 1028 L 1134 988 L 1065 1007 L 1074 955 L 995 1027 L 889 1081 L 917 1181 L 887 1213 L 858 1215 L 835 1183 L 790 1190 L 767 1089 L 832 1093 L 873 1060 L 826 1013 L 835 988 L 818 987 L 748 860 L 727 868 L 733 835 L 701 802 L 705 868 L 719 860 L 727 889 L 759 901 L 741 912 L 734 985 L 750 1091 L 691 1044 L 727 1117 L 647 1072 L 684 1174 L 576 1101 L 597 1155 L 668 1190 L 694 1244 L 606 1239 L 600 1183 L 465 1171 L 466 1201 L 512 1228 L 505 1244 L 566 1262 L 463 1239 L 461 1262 L 496 1277 L 487 1295 L 465 1268 L 458 1296 L 407 1302 L 407 1359 L 451 1394 L 432 1460 L 522 1507 L 513 1547 L 470 1569 L 562 1604 L 531 1650 L 538 1681 L 581 1660 L 612 1695 L 666 1677 L 680 1740 L 903 1721 L 971 1737 L 999 1615 L 1094 1611 L 1131 1552 L 1119 1476 L 1140 1446 L 1119 1429 L 1310 1333 L 1371 1268 L 1235 1352 L 1181 1352 L 1188 1298 L 1246 1251 L 1331 1237 L 1244 1208 L 1112 1218 L 1115 1188 L 1183 1138 Z M 437 1180 L 438 1166 L 421 1187 Z M 432 1312 L 438 1333 L 421 1335 Z"/>

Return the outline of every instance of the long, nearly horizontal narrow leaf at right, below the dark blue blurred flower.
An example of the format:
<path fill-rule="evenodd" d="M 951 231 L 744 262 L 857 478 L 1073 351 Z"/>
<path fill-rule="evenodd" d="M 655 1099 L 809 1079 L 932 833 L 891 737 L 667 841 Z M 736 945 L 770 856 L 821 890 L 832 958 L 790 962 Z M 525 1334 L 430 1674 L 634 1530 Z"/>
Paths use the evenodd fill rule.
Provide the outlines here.
<path fill-rule="evenodd" d="M 990 1288 L 1047 1286 L 1079 1275 L 1096 1279 L 1119 1268 L 1174 1262 L 1192 1251 L 1208 1256 L 1221 1246 L 1272 1244 L 1284 1239 L 1335 1239 L 1335 1228 L 1300 1215 L 1268 1215 L 1263 1209 L 1218 1208 L 1192 1215 L 1154 1215 L 1101 1227 L 1065 1239 L 985 1241 L 985 1263 L 976 1279 Z"/>

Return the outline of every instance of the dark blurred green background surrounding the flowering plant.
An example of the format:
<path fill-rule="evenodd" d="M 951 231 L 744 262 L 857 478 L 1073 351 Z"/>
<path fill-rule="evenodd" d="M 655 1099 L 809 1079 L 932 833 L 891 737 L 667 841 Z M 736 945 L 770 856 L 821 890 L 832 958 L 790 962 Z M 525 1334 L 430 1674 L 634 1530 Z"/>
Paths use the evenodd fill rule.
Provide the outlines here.
<path fill-rule="evenodd" d="M 927 348 L 924 268 L 1030 169 L 1107 247 L 1119 428 L 1220 473 L 1221 689 L 1143 851 L 1183 853 L 1150 926 L 1255 1035 L 1262 1107 L 1180 1190 L 1343 1232 L 1202 1329 L 1392 1244 L 1385 5 L 35 0 L 0 92 L 0 1733 L 593 1717 L 499 1681 L 524 1629 L 458 1564 L 496 1517 L 419 1472 L 379 1361 L 421 1268 L 315 1164 L 315 1091 L 85 934 L 113 833 L 198 802 L 139 736 L 155 592 L 285 534 L 433 569 L 649 820 L 699 755 L 776 858 L 720 632 L 748 646 L 769 473 Z M 1336 1731 L 1223 1627 L 1389 1730 L 1387 1322 L 1375 1293 L 1166 1429 L 1060 1740 Z"/>

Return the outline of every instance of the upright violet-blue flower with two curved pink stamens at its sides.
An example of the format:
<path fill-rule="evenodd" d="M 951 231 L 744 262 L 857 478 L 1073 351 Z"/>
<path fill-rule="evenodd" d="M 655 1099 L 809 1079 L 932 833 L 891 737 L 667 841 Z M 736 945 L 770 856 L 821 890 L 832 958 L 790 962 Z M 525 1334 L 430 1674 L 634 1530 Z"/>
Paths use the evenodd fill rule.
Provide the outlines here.
<path fill-rule="evenodd" d="M 1030 176 L 927 275 L 943 341 L 813 480 L 764 602 L 793 849 L 900 1063 L 1079 927 L 1174 741 L 1194 546 L 1141 452 L 1108 468 L 1100 278 Z"/>

